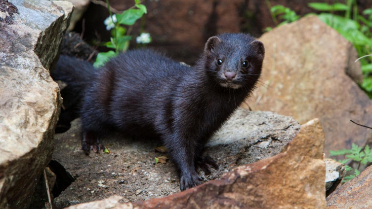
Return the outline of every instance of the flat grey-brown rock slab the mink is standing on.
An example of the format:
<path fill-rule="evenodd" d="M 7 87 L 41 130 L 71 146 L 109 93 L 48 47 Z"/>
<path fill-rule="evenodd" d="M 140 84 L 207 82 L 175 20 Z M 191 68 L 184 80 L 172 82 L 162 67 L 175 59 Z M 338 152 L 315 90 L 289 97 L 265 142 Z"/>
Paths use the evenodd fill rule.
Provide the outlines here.
<path fill-rule="evenodd" d="M 205 154 L 213 157 L 219 169 L 205 180 L 219 179 L 237 166 L 278 154 L 299 131 L 299 124 L 288 116 L 272 112 L 238 109 L 217 133 Z M 144 201 L 180 192 L 175 165 L 156 164 L 160 141 L 123 139 L 115 133 L 102 139 L 112 153 L 81 150 L 81 128 L 75 120 L 72 128 L 55 136 L 53 160 L 61 163 L 76 180 L 54 200 L 55 208 L 102 200 L 120 195 L 123 202 Z"/>

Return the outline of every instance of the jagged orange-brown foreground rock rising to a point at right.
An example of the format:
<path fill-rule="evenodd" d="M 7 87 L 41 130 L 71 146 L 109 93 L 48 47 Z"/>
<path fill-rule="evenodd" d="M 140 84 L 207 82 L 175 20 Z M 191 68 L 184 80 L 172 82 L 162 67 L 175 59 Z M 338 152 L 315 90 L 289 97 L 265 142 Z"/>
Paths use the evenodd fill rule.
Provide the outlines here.
<path fill-rule="evenodd" d="M 112 208 L 326 209 L 324 140 L 322 125 L 314 119 L 302 125 L 297 136 L 278 155 L 240 166 L 220 180 L 178 194 L 137 203 L 116 201 Z M 119 197 L 104 201 L 113 199 Z M 98 209 L 97 205 L 88 204 L 90 209 Z M 84 207 L 88 205 L 68 209 Z"/>

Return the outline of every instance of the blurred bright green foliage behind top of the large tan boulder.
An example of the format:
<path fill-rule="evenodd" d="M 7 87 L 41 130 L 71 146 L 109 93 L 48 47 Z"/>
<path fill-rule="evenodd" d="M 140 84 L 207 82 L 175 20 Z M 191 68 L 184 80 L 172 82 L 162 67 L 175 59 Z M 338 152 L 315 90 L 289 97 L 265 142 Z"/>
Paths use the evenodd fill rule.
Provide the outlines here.
<path fill-rule="evenodd" d="M 282 5 L 271 7 L 268 0 L 266 0 L 266 3 L 277 26 L 293 22 L 299 18 L 289 8 Z M 372 8 L 359 13 L 356 0 L 346 0 L 346 3 L 337 2 L 333 4 L 312 2 L 308 5 L 320 11 L 321 13 L 318 14 L 318 17 L 350 41 L 360 57 L 372 54 Z M 334 12 L 337 12 L 337 14 L 334 14 Z M 277 21 L 278 15 L 282 15 L 280 17 L 283 20 L 279 24 Z M 271 28 L 266 28 L 265 30 L 270 31 Z M 364 75 L 360 86 L 372 99 L 372 57 L 361 59 L 360 62 Z"/>

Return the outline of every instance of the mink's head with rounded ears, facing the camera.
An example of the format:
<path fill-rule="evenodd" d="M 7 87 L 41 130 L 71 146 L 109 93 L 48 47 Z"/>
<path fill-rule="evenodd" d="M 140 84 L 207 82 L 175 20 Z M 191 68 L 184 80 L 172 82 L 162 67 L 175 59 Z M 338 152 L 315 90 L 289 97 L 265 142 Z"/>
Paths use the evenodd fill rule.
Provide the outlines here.
<path fill-rule="evenodd" d="M 207 75 L 226 88 L 252 88 L 259 78 L 265 55 L 263 43 L 247 34 L 210 37 L 204 48 Z"/>

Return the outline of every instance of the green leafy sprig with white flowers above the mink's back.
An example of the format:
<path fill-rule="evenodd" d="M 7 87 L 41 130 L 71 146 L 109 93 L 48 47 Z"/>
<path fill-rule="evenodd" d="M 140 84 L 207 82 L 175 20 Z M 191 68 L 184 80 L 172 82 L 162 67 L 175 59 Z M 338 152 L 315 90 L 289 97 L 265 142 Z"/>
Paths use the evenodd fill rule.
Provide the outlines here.
<path fill-rule="evenodd" d="M 128 30 L 123 26 L 132 26 L 138 19 L 147 13 L 146 6 L 141 4 L 141 0 L 135 0 L 133 7 L 124 10 L 121 14 L 112 14 L 110 4 L 106 0 L 107 8 L 109 9 L 110 17 L 105 20 L 106 29 L 111 30 L 111 38 L 109 42 L 104 45 L 107 48 L 114 49 L 108 52 L 100 52 L 93 66 L 98 68 L 103 66 L 110 58 L 117 56 L 120 52 L 124 52 L 129 47 L 129 41 L 132 36 L 129 35 Z"/>

